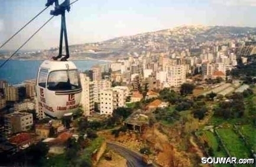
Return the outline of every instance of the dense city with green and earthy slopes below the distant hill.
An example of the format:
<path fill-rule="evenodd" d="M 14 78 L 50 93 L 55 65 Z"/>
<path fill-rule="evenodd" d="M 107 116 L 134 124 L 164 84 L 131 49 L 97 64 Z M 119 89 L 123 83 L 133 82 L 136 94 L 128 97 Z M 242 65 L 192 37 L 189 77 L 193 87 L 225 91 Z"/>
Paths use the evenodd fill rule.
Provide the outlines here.
<path fill-rule="evenodd" d="M 200 166 L 203 156 L 254 159 L 255 42 L 197 45 L 196 54 L 145 51 L 92 66 L 79 74 L 79 109 L 61 119 L 44 114 L 35 79 L 0 81 L 1 163 L 125 166 L 115 144 L 153 166 Z"/>

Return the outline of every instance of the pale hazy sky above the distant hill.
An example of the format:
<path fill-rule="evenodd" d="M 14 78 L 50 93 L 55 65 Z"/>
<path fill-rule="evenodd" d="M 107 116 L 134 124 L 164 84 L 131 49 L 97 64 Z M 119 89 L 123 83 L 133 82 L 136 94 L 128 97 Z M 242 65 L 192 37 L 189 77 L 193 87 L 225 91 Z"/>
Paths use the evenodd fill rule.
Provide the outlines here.
<path fill-rule="evenodd" d="M 0 45 L 37 15 L 46 1 L 0 0 Z M 50 18 L 52 9 L 54 6 L 2 49 L 17 49 Z M 73 45 L 180 25 L 255 27 L 255 15 L 256 0 L 79 0 L 66 14 L 66 24 L 69 45 Z M 59 46 L 60 21 L 60 16 L 54 17 L 22 49 Z"/>

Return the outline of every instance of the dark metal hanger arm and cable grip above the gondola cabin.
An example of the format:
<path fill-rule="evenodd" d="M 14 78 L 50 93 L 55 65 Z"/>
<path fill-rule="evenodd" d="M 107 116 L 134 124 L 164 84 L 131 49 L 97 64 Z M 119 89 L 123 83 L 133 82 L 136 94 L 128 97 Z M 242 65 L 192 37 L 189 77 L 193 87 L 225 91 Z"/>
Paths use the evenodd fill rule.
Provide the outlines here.
<path fill-rule="evenodd" d="M 55 4 L 54 10 L 50 11 L 51 15 L 58 16 L 61 15 L 61 27 L 60 27 L 60 46 L 59 46 L 59 55 L 53 56 L 52 59 L 57 61 L 59 58 L 64 56 L 60 59 L 60 61 L 67 61 L 69 58 L 69 44 L 67 41 L 67 28 L 66 28 L 66 18 L 65 12 L 70 11 L 70 0 L 65 0 L 62 4 L 59 5 L 59 0 L 47 0 L 46 6 L 50 6 Z M 63 44 L 63 34 L 64 34 L 64 41 L 66 47 L 66 55 L 62 55 L 62 44 Z"/>

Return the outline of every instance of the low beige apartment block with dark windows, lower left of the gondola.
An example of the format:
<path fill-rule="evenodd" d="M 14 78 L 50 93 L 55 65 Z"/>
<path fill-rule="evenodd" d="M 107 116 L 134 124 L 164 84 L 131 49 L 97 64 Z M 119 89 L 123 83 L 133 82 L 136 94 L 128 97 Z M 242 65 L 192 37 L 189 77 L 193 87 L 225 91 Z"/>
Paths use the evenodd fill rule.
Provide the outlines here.
<path fill-rule="evenodd" d="M 27 112 L 14 112 L 4 116 L 5 133 L 10 135 L 28 131 L 33 125 L 33 115 Z"/>

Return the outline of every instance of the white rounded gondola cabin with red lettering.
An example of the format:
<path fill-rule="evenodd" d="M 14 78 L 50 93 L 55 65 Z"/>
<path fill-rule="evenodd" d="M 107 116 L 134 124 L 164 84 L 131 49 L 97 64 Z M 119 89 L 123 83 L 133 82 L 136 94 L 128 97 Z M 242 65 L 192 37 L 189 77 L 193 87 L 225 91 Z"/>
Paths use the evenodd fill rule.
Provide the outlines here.
<path fill-rule="evenodd" d="M 82 86 L 76 65 L 70 61 L 44 61 L 37 74 L 39 108 L 54 119 L 79 108 Z"/>

